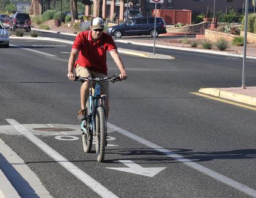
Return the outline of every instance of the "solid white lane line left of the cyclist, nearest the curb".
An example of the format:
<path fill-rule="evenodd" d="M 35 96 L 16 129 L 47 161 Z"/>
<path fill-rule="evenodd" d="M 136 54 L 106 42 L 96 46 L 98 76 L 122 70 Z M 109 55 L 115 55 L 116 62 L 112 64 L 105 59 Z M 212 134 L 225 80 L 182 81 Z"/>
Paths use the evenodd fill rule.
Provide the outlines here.
<path fill-rule="evenodd" d="M 114 193 L 109 191 L 107 188 L 105 188 L 103 185 L 98 183 L 95 179 L 87 175 L 85 172 L 83 172 L 81 169 L 76 167 L 73 163 L 68 161 L 65 157 L 60 155 L 58 152 L 56 152 L 54 149 L 49 147 L 47 144 L 45 144 L 42 140 L 34 136 L 31 132 L 25 129 L 24 126 L 22 126 L 19 122 L 15 121 L 14 119 L 6 119 L 7 122 L 9 122 L 10 125 L 15 127 L 15 129 L 20 132 L 22 135 L 24 135 L 27 139 L 29 139 L 32 143 L 34 143 L 37 147 L 39 147 L 45 154 L 49 155 L 49 157 L 53 158 L 57 163 L 59 163 L 61 166 L 63 166 L 67 171 L 69 171 L 71 174 L 75 175 L 81 182 L 83 182 L 85 185 L 89 186 L 95 193 L 97 193 L 101 197 L 117 197 Z"/>

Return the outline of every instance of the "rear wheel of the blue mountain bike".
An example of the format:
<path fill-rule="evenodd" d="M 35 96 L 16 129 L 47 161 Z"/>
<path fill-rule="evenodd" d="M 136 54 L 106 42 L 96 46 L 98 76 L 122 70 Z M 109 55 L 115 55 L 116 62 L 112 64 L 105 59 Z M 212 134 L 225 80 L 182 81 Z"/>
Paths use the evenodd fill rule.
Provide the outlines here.
<path fill-rule="evenodd" d="M 82 134 L 82 147 L 84 148 L 84 152 L 89 153 L 92 151 L 92 131 L 90 130 L 89 127 L 89 120 L 88 120 L 88 115 L 90 114 L 90 106 L 89 106 L 89 99 L 86 102 L 86 126 L 84 126 L 84 128 L 86 128 L 87 132 L 89 133 L 89 135 L 87 135 L 86 133 Z"/>

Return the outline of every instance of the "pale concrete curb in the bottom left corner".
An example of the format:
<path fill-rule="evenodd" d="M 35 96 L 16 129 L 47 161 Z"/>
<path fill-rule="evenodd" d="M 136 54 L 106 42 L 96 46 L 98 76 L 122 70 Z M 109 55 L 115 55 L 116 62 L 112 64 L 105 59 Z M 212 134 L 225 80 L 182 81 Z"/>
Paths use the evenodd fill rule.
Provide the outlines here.
<path fill-rule="evenodd" d="M 0 169 L 0 197 L 1 198 L 20 198 L 19 194 L 13 188 L 12 184 L 10 181 L 5 177 L 4 172 L 1 171 Z"/>

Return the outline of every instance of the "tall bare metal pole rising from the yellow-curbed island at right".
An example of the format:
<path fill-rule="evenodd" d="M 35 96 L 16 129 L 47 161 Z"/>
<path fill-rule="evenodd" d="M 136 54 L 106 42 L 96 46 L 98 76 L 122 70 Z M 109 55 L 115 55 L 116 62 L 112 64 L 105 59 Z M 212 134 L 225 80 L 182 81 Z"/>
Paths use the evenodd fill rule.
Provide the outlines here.
<path fill-rule="evenodd" d="M 242 88 L 246 88 L 246 77 L 245 77 L 245 69 L 246 69 L 246 47 L 247 47 L 247 19 L 248 19 L 248 0 L 246 0 L 246 14 L 244 16 L 244 58 L 243 58 L 243 77 L 242 77 Z"/>

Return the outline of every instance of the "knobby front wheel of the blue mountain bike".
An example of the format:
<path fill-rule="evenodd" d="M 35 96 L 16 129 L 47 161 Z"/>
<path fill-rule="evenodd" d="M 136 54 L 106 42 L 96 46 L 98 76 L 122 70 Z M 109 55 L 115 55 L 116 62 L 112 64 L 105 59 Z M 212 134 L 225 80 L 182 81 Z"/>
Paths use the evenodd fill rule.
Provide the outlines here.
<path fill-rule="evenodd" d="M 105 155 L 106 135 L 107 135 L 107 122 L 106 113 L 103 107 L 98 107 L 95 115 L 95 128 L 96 128 L 96 155 L 97 161 L 102 162 Z"/>

